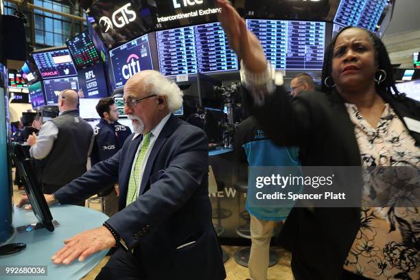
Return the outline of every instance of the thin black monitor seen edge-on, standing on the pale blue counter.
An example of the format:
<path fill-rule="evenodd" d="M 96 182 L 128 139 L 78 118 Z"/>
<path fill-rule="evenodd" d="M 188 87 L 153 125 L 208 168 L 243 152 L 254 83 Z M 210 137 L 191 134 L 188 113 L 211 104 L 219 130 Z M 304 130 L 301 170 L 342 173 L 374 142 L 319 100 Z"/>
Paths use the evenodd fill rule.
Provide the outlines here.
<path fill-rule="evenodd" d="M 33 167 L 34 163 L 32 162 L 33 160 L 30 159 L 29 156 L 26 156 L 22 145 L 19 143 L 12 143 L 10 150 L 14 163 L 16 164 L 16 168 L 19 169 L 22 176 L 23 186 L 25 187 L 27 197 L 32 205 L 35 217 L 48 231 L 54 231 L 51 211 L 49 211 L 47 201 L 45 200 L 41 187 L 36 180 L 36 174 Z"/>

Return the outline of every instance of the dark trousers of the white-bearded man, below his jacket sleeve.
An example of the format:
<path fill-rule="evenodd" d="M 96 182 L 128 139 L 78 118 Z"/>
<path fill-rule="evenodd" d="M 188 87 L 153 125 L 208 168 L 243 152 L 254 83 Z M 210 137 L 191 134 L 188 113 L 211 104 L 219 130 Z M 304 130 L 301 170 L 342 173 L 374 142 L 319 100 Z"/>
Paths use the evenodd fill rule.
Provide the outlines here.
<path fill-rule="evenodd" d="M 135 254 L 119 247 L 110 256 L 108 263 L 102 268 L 97 280 L 134 280 L 147 279 L 141 266 L 141 260 Z"/>

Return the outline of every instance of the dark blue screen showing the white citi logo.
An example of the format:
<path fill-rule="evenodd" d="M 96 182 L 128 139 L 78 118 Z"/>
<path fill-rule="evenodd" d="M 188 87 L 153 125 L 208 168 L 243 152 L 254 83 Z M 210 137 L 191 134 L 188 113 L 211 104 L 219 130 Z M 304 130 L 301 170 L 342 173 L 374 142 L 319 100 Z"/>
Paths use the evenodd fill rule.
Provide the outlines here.
<path fill-rule="evenodd" d="M 109 57 L 116 88 L 124 86 L 135 73 L 153 69 L 147 34 L 111 49 Z"/>

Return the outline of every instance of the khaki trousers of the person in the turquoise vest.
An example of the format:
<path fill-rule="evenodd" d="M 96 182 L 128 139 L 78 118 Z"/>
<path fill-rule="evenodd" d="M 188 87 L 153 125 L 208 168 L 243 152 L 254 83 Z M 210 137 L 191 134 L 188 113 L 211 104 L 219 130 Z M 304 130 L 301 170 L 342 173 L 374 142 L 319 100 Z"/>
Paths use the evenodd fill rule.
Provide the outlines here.
<path fill-rule="evenodd" d="M 276 221 L 259 220 L 250 215 L 251 248 L 249 274 L 253 280 L 266 280 L 270 240 Z"/>

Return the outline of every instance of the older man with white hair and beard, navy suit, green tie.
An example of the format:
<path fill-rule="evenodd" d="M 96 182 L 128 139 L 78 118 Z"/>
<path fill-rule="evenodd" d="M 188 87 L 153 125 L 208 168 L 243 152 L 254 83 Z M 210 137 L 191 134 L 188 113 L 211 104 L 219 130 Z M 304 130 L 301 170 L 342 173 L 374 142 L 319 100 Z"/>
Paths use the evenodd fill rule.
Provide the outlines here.
<path fill-rule="evenodd" d="M 119 246 L 97 279 L 224 279 L 211 223 L 205 132 L 175 117 L 183 93 L 156 71 L 141 71 L 124 87 L 135 134 L 106 161 L 62 187 L 47 202 L 88 198 L 118 178 L 119 212 L 103 226 L 75 235 L 52 257 L 83 261 Z M 22 205 L 23 203 L 20 203 Z"/>

